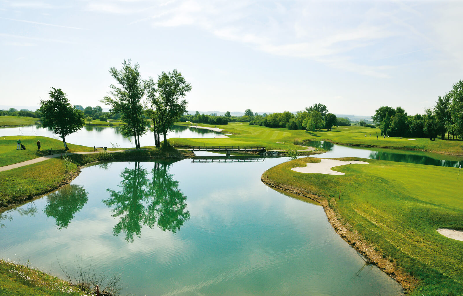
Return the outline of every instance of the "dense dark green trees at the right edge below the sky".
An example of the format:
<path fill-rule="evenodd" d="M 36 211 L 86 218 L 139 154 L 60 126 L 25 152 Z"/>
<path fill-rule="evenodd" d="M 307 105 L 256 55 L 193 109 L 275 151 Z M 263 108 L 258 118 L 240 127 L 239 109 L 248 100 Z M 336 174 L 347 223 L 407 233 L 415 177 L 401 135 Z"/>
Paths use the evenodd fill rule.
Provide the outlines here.
<path fill-rule="evenodd" d="M 463 138 L 463 81 L 453 85 L 449 93 L 439 96 L 433 108 L 424 114 L 408 115 L 401 107 L 382 106 L 376 110 L 373 121 L 382 135 L 428 137 L 435 140 Z"/>

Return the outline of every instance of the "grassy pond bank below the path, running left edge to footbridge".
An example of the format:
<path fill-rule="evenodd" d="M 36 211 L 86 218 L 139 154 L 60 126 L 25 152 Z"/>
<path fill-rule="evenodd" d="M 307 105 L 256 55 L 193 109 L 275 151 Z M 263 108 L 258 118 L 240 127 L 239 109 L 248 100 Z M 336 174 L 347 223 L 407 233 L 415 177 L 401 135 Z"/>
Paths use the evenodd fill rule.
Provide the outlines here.
<path fill-rule="evenodd" d="M 71 162 L 52 158 L 36 164 L 0 172 L 1 207 L 20 203 L 45 194 L 69 183 L 79 174 L 78 166 L 99 160 L 144 160 L 151 158 L 183 158 L 193 156 L 190 151 L 170 149 L 126 150 L 124 152 L 99 152 L 69 155 Z"/>

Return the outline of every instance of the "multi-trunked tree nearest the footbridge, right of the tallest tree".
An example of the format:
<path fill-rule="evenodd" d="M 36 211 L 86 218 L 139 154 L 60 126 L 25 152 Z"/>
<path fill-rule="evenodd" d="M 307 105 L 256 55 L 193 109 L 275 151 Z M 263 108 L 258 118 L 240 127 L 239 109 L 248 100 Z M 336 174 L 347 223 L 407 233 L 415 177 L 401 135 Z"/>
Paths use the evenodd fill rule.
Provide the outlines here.
<path fill-rule="evenodd" d="M 157 87 L 154 80 L 145 81 L 148 90 L 148 101 L 156 115 L 155 132 L 162 134 L 164 144 L 167 144 L 167 132 L 187 111 L 187 101 L 182 99 L 191 91 L 191 85 L 176 69 L 172 72 L 162 72 L 157 77 Z"/>

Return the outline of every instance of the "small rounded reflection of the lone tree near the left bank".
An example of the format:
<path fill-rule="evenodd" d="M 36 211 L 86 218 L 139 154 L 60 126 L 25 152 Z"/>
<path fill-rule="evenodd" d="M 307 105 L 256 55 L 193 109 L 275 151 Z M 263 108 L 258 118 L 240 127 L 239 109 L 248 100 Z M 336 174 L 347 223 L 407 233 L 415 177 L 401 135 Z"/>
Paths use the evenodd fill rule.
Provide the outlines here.
<path fill-rule="evenodd" d="M 75 213 L 78 213 L 88 201 L 88 192 L 79 185 L 66 185 L 47 195 L 44 213 L 56 220 L 60 229 L 68 227 Z"/>

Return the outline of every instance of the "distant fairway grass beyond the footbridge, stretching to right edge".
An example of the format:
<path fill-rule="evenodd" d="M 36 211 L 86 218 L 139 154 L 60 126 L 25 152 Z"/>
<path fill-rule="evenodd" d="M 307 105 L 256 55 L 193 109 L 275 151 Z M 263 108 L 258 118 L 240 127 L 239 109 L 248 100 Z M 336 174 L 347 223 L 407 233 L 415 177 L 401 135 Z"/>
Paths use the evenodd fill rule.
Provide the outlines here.
<path fill-rule="evenodd" d="M 177 123 L 176 123 L 177 124 Z M 217 139 L 172 139 L 179 146 L 214 146 L 214 145 L 248 145 L 248 146 L 267 146 L 268 149 L 288 149 L 288 144 L 278 144 L 277 142 L 290 143 L 291 148 L 294 139 L 301 141 L 307 140 L 322 140 L 330 141 L 345 145 L 358 145 L 367 147 L 384 147 L 384 148 L 400 148 L 411 150 L 423 150 L 428 152 L 446 153 L 463 155 L 463 141 L 429 141 L 425 138 L 410 138 L 415 140 L 407 140 L 400 137 L 381 136 L 380 129 L 372 129 L 361 126 L 339 126 L 333 127 L 332 130 L 321 130 L 316 132 L 308 132 L 306 130 L 288 130 L 288 129 L 272 129 L 257 125 L 248 125 L 248 123 L 228 123 L 224 125 L 208 125 L 198 124 L 199 126 L 218 127 L 225 129 L 225 133 L 234 135 L 229 138 Z M 369 136 L 371 134 L 371 137 Z M 378 139 L 376 139 L 378 135 Z M 366 137 L 365 137 L 366 136 Z M 298 148 L 302 149 L 302 148 Z"/>

